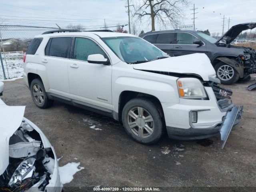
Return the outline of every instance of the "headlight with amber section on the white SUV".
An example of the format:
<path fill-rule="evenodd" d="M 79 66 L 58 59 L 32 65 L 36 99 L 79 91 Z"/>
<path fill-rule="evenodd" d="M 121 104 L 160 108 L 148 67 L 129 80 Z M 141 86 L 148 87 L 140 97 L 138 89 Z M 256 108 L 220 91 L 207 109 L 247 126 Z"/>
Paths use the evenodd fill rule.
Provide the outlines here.
<path fill-rule="evenodd" d="M 204 86 L 200 80 L 196 78 L 179 78 L 178 81 L 179 94 L 185 99 L 204 99 L 207 98 Z"/>

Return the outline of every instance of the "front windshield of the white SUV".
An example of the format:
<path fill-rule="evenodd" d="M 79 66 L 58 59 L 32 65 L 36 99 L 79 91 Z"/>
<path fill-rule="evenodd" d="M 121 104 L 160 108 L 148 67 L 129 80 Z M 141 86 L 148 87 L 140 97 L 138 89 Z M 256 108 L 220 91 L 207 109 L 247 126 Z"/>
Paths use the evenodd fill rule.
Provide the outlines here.
<path fill-rule="evenodd" d="M 116 56 L 126 63 L 143 63 L 170 57 L 142 38 L 111 37 L 102 39 Z"/>

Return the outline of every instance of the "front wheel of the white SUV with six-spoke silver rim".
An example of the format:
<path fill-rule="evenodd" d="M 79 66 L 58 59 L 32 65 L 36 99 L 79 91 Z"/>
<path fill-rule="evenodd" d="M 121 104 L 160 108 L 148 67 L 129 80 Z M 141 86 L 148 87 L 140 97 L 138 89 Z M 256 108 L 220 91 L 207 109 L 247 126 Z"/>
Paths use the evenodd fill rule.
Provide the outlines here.
<path fill-rule="evenodd" d="M 146 98 L 128 101 L 123 108 L 122 122 L 128 135 L 142 144 L 154 144 L 164 133 L 157 106 Z"/>

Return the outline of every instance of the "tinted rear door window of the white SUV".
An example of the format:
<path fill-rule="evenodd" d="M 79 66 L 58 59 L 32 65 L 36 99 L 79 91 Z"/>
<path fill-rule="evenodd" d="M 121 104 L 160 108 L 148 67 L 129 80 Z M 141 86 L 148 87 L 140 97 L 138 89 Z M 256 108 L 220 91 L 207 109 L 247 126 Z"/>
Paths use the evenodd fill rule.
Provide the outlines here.
<path fill-rule="evenodd" d="M 56 37 L 50 38 L 46 48 L 46 56 L 70 58 L 72 38 L 71 37 Z"/>

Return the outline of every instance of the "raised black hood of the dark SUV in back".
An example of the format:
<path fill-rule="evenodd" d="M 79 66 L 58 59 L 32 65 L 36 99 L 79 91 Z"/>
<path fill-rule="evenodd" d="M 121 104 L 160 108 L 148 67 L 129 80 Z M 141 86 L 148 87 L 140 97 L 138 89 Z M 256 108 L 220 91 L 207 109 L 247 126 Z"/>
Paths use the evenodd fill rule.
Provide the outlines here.
<path fill-rule="evenodd" d="M 226 40 L 226 44 L 230 44 L 242 31 L 248 29 L 254 29 L 256 23 L 243 23 L 232 26 L 215 44 L 218 44 L 220 40 Z"/>

